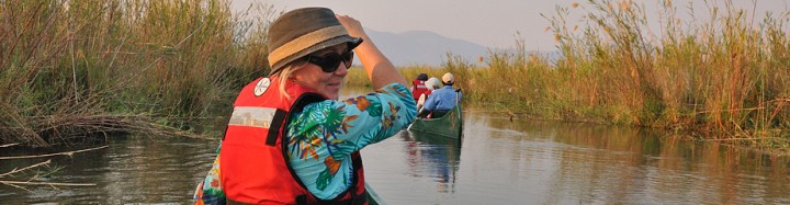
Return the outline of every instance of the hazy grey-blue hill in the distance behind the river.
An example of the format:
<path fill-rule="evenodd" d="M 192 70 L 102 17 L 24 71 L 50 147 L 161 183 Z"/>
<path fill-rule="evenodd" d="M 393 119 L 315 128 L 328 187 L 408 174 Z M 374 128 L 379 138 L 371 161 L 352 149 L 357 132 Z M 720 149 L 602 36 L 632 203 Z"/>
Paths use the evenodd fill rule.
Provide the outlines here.
<path fill-rule="evenodd" d="M 427 31 L 395 34 L 365 29 L 365 32 L 395 66 L 439 66 L 447 58 L 448 52 L 472 62 L 478 56 L 486 56 L 487 50 L 479 44 Z"/>

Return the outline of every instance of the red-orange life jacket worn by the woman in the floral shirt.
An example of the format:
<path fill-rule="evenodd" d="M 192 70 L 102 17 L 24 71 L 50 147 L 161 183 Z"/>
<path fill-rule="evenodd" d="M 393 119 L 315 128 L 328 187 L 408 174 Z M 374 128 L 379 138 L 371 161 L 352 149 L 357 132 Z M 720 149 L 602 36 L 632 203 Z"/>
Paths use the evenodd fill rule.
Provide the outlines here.
<path fill-rule="evenodd" d="M 219 179 L 228 200 L 250 204 L 366 204 L 362 158 L 351 155 L 354 186 L 336 198 L 315 197 L 291 168 L 284 130 L 290 113 L 327 98 L 289 82 L 281 98 L 276 78 L 245 87 L 234 103 L 219 151 Z"/>

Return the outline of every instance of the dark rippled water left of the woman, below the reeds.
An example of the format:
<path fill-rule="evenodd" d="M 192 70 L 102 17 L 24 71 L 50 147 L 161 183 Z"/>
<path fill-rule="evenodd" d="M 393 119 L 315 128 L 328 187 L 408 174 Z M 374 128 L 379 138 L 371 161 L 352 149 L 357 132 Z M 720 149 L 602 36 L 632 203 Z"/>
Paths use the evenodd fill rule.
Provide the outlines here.
<path fill-rule="evenodd" d="M 29 191 L 0 185 L 2 204 L 125 204 L 173 203 L 191 200 L 199 175 L 211 164 L 216 141 L 183 138 L 114 137 L 109 148 L 54 157 L 63 169 L 47 182 L 94 183 L 95 186 L 30 186 Z M 77 148 L 66 148 L 76 150 Z M 60 150 L 65 151 L 65 150 Z M 3 151 L 3 156 L 30 151 Z M 40 159 L 0 161 L 0 171 L 31 164 Z"/>

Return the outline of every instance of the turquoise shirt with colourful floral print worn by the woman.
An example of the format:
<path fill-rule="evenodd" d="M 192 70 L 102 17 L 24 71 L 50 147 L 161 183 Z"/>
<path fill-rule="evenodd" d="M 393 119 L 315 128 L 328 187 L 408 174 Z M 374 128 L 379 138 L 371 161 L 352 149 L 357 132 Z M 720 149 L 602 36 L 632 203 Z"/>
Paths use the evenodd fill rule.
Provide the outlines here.
<path fill-rule="evenodd" d="M 291 167 L 316 197 L 335 198 L 353 185 L 351 152 L 397 134 L 416 115 L 411 92 L 399 83 L 308 104 L 292 113 L 286 127 Z"/>

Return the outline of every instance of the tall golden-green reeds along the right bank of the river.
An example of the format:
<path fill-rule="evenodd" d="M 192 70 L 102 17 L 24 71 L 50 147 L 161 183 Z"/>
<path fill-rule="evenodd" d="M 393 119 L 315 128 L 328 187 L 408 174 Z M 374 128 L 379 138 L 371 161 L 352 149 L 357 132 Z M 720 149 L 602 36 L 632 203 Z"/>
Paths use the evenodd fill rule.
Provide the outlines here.
<path fill-rule="evenodd" d="M 503 114 L 661 127 L 790 152 L 790 13 L 757 21 L 732 2 L 661 5 L 658 19 L 632 1 L 558 7 L 545 16 L 556 58 L 517 39 L 517 52 L 489 52 L 483 66 L 448 55 L 441 68 L 404 75 L 451 71 L 465 103 Z M 574 12 L 584 18 L 569 22 Z"/>

